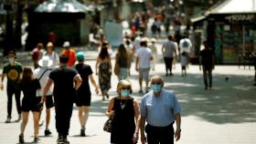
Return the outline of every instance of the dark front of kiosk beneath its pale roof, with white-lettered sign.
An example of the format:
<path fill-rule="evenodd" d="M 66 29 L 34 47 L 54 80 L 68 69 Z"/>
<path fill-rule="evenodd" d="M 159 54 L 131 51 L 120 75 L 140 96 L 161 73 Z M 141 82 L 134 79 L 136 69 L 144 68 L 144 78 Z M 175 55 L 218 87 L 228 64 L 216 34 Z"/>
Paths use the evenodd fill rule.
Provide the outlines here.
<path fill-rule="evenodd" d="M 210 15 L 208 42 L 220 64 L 238 64 L 252 57 L 256 47 L 256 14 Z"/>

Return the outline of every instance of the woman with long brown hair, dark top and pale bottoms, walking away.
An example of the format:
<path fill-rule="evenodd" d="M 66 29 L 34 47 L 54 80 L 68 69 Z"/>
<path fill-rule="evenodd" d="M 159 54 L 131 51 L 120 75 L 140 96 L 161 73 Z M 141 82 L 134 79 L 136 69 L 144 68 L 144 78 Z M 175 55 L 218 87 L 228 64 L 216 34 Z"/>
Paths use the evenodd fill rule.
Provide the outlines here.
<path fill-rule="evenodd" d="M 118 47 L 115 55 L 115 65 L 118 65 L 118 80 L 126 79 L 129 73 L 129 55 L 123 44 Z"/>

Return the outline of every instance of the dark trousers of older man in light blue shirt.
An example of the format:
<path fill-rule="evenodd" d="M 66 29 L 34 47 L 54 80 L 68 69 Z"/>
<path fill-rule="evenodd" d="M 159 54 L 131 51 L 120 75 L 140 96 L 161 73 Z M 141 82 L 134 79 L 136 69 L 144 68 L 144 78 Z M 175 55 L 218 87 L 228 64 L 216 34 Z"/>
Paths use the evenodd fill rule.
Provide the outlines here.
<path fill-rule="evenodd" d="M 148 144 L 174 144 L 173 123 L 166 127 L 145 126 Z"/>

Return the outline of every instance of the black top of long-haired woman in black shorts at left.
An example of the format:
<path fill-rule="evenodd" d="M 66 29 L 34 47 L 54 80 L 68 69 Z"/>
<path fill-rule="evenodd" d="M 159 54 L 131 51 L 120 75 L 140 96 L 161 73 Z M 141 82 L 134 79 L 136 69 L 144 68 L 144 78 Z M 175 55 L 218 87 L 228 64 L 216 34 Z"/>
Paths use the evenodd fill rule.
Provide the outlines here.
<path fill-rule="evenodd" d="M 36 78 L 22 81 L 20 83 L 20 88 L 23 91 L 24 98 L 33 99 L 37 97 L 37 89 L 41 88 L 41 86 L 39 80 Z"/>

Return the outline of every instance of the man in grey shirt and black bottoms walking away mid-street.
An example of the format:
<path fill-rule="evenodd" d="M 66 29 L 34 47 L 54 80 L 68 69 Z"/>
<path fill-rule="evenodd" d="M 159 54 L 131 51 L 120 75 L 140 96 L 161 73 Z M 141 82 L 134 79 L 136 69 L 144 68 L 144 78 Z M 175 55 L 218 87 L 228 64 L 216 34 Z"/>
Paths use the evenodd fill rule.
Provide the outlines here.
<path fill-rule="evenodd" d="M 176 58 L 176 49 L 177 45 L 173 36 L 168 36 L 168 41 L 162 46 L 162 54 L 165 60 L 165 76 L 168 76 L 168 70 L 170 72 L 170 76 L 173 76 L 172 68 L 174 58 Z"/>

